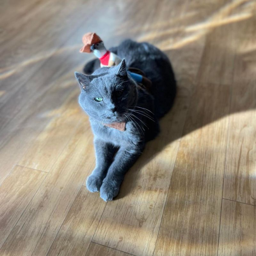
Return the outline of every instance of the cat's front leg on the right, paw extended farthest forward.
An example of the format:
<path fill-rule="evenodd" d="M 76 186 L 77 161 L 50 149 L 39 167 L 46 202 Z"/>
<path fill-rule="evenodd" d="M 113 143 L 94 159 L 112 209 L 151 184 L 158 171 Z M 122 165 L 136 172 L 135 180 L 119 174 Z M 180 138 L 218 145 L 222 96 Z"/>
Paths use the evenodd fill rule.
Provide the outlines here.
<path fill-rule="evenodd" d="M 104 201 L 113 200 L 113 197 L 118 194 L 125 173 L 140 156 L 143 148 L 144 145 L 119 148 L 100 187 L 100 197 Z"/>

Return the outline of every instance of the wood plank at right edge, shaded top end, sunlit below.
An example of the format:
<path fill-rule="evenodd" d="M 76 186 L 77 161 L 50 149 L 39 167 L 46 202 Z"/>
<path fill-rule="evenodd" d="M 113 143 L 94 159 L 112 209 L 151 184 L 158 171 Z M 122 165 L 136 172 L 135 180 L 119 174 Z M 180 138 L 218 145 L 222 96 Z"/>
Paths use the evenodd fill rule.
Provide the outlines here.
<path fill-rule="evenodd" d="M 255 80 L 256 81 L 256 80 Z M 256 205 L 256 83 L 236 84 L 232 94 L 223 197 Z M 242 108 L 239 111 L 237 108 Z M 238 121 L 239 120 L 239 121 Z"/>

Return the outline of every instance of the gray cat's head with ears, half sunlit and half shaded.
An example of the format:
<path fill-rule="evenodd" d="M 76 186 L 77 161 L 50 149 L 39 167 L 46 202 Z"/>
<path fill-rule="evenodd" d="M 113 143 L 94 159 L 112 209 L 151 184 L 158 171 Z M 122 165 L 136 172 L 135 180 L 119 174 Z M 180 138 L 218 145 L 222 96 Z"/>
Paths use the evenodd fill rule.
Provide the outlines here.
<path fill-rule="evenodd" d="M 75 72 L 80 84 L 79 104 L 94 121 L 123 122 L 125 113 L 137 102 L 136 84 L 129 79 L 125 61 L 110 68 L 99 68 L 92 75 Z"/>

